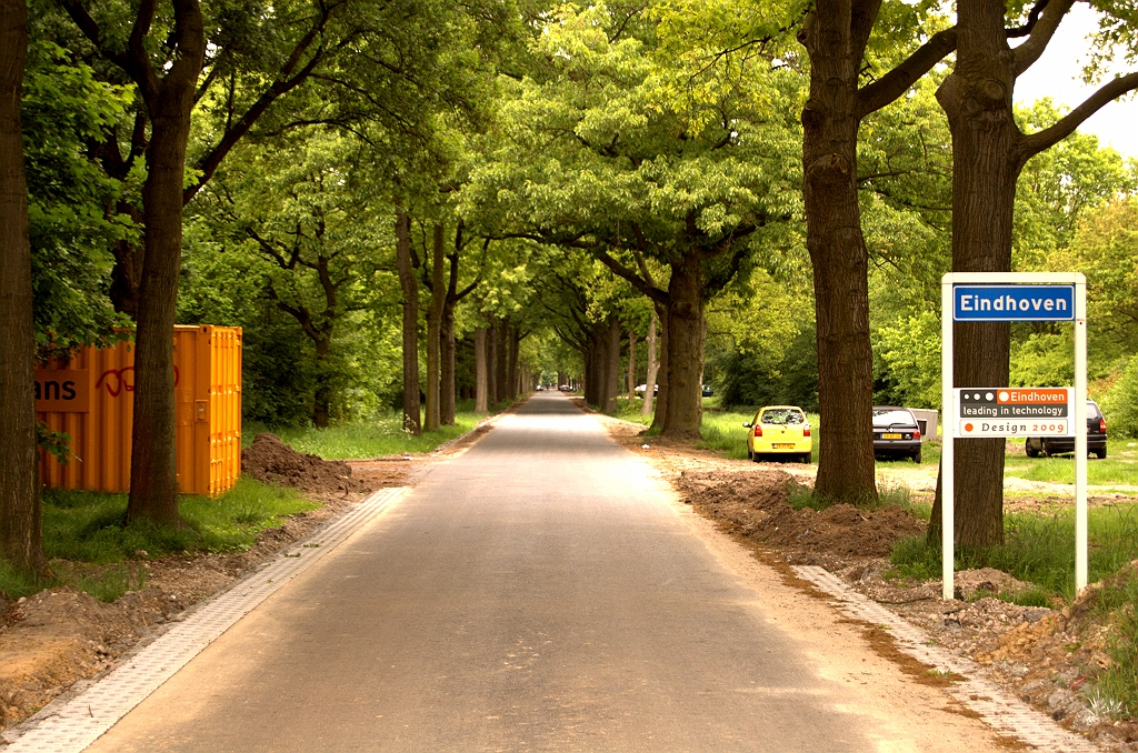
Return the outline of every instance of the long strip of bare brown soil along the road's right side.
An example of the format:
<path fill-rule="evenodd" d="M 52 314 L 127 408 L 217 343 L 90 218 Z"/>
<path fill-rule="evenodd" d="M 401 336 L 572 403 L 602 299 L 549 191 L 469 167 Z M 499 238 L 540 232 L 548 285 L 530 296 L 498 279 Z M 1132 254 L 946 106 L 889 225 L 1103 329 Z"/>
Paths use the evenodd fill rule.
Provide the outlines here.
<path fill-rule="evenodd" d="M 711 450 L 645 439 L 640 424 L 595 415 L 613 439 L 651 463 L 684 503 L 750 545 L 760 558 L 781 564 L 787 581 L 795 578 L 785 565 L 823 566 L 925 629 L 948 651 L 988 668 L 991 678 L 1011 695 L 1069 729 L 1106 750 L 1138 751 L 1138 720 L 1120 719 L 1092 702 L 1095 677 L 1111 662 L 1105 651 L 1111 626 L 1102 624 L 1091 609 L 1100 586 L 1092 585 L 1070 606 L 1019 606 L 986 594 L 1014 593 L 1031 585 L 986 568 L 957 572 L 958 598 L 945 601 L 940 580 L 909 581 L 890 573 L 892 545 L 904 537 L 923 536 L 927 528 L 902 507 L 794 510 L 789 500 L 795 486 L 813 488 L 815 469 L 810 465 L 727 460 Z M 929 479 L 923 478 L 930 475 L 929 469 L 914 466 L 913 471 L 921 477 L 913 483 L 914 496 L 927 495 L 931 502 L 935 469 Z M 907 481 L 898 469 L 888 469 L 879 478 L 879 483 L 885 485 Z M 1115 495 L 1092 500 L 1098 505 L 1118 503 Z M 1049 500 L 1014 504 L 1046 508 Z M 1138 577 L 1138 562 L 1131 563 L 1131 569 Z M 808 585 L 805 589 L 813 590 Z"/>

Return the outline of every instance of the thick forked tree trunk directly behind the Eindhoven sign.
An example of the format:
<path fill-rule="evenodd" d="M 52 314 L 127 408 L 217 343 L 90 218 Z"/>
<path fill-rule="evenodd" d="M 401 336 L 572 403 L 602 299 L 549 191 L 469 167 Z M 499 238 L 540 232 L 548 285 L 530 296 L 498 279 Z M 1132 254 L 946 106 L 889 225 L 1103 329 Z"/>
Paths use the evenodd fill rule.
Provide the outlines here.
<path fill-rule="evenodd" d="M 1039 0 L 1022 26 L 1008 26 L 1001 0 L 958 0 L 956 65 L 937 92 L 953 132 L 953 270 L 1011 272 L 1016 183 L 1033 156 L 1069 136 L 1088 117 L 1138 89 L 1138 72 L 1118 76 L 1050 127 L 1020 130 L 1013 109 L 1016 78 L 1044 53 L 1074 0 Z M 1132 20 L 1121 5 L 1105 22 Z M 1011 16 L 1011 18 L 1009 18 Z M 1124 33 L 1119 41 L 1127 39 Z M 1015 48 L 1013 39 L 1023 39 Z M 1132 39 L 1131 39 L 1132 43 Z M 954 382 L 1001 387 L 1008 382 L 1011 328 L 984 322 L 954 325 Z M 1003 439 L 960 442 L 956 453 L 956 540 L 990 546 L 1004 540 Z M 939 489 L 939 485 L 938 485 Z M 939 537 L 940 498 L 933 529 Z"/>

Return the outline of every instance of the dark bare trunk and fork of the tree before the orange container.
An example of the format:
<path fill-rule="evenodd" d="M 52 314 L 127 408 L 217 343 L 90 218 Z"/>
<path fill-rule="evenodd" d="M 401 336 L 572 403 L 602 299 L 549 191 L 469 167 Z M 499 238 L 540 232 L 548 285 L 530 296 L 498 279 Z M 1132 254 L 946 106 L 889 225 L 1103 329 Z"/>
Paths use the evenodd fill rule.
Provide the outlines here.
<path fill-rule="evenodd" d="M 180 526 L 174 463 L 174 309 L 182 255 L 182 205 L 190 113 L 206 43 L 197 0 L 172 0 L 173 16 L 143 0 L 119 36 L 75 0 L 61 5 L 100 53 L 137 86 L 149 139 L 142 222 L 146 226 L 134 347 L 134 423 L 127 520 Z M 155 26 L 158 26 L 156 30 Z M 156 42 L 160 35 L 163 42 Z M 162 55 L 151 53 L 160 49 Z"/>

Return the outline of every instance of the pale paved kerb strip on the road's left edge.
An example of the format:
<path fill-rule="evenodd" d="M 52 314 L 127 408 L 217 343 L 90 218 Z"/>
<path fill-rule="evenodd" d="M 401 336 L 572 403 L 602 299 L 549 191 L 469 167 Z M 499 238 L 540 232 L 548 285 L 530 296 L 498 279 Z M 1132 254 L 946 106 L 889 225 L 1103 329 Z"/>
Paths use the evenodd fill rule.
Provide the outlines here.
<path fill-rule="evenodd" d="M 304 572 L 353 532 L 406 493 L 406 487 L 380 489 L 358 505 L 273 555 L 265 566 L 204 602 L 190 614 L 140 649 L 101 680 L 58 709 L 47 706 L 38 723 L 5 753 L 79 753 L 110 729 L 178 670 L 201 653 L 238 620 L 277 589 Z"/>

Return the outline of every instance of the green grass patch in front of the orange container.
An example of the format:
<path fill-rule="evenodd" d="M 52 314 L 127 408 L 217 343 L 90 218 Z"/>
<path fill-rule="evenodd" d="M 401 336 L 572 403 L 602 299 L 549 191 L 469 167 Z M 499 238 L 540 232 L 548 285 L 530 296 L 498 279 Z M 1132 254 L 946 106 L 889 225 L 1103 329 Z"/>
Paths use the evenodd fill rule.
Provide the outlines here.
<path fill-rule="evenodd" d="M 176 529 L 149 523 L 125 526 L 125 494 L 46 489 L 42 504 L 43 549 L 51 576 L 27 578 L 0 562 L 0 593 L 10 598 L 68 586 L 113 602 L 143 585 L 145 571 L 133 566 L 134 560 L 247 549 L 264 529 L 319 506 L 291 489 L 251 479 L 241 479 L 216 499 L 182 497 L 180 512 L 187 526 Z"/>

